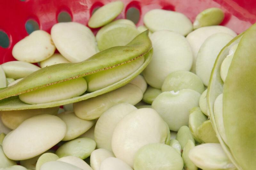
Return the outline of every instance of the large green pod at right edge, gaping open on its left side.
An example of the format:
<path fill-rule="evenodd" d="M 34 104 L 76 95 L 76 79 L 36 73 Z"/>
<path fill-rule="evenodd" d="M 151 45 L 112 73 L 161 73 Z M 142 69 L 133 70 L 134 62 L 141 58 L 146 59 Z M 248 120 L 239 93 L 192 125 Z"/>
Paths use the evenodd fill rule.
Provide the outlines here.
<path fill-rule="evenodd" d="M 220 76 L 223 60 L 238 43 L 225 83 Z M 256 24 L 231 40 L 219 53 L 208 86 L 207 107 L 223 150 L 239 170 L 255 169 L 256 162 Z M 223 93 L 222 114 L 216 98 Z M 216 106 L 214 106 L 214 104 Z M 216 112 L 218 111 L 218 113 Z M 222 115 L 222 117 L 220 117 Z M 223 123 L 221 123 L 223 121 Z M 220 127 L 223 125 L 222 127 Z M 223 131 L 224 127 L 224 131 Z M 224 134 L 223 134 L 224 133 Z"/>

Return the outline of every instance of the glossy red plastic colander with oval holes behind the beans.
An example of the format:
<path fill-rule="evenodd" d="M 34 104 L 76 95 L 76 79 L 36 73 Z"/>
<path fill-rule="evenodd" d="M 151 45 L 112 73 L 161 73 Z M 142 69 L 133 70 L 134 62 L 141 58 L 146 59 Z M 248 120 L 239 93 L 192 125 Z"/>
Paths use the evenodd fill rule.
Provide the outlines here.
<path fill-rule="evenodd" d="M 0 47 L 0 64 L 15 60 L 12 57 L 12 47 L 20 39 L 28 35 L 25 23 L 28 19 L 38 22 L 39 28 L 50 32 L 56 24 L 61 11 L 67 11 L 72 21 L 87 25 L 94 8 L 109 3 L 111 0 L 0 0 L 0 31 L 4 31 L 10 39 L 7 48 Z M 125 18 L 125 12 L 130 7 L 140 10 L 140 20 L 151 9 L 178 11 L 194 21 L 196 15 L 206 8 L 219 7 L 225 11 L 225 19 L 221 25 L 233 29 L 237 33 L 246 30 L 256 22 L 255 0 L 122 0 L 124 10 L 117 18 Z M 93 30 L 96 32 L 97 30 Z"/>

